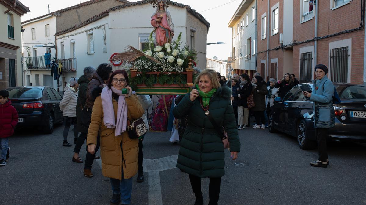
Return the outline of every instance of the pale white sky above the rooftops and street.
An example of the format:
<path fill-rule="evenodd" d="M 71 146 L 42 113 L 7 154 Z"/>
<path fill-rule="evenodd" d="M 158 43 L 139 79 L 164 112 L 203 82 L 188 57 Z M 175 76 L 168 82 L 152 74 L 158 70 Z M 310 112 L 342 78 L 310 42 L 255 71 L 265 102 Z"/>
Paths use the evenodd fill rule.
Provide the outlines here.
<path fill-rule="evenodd" d="M 48 4 L 50 12 L 62 8 L 70 7 L 86 0 L 20 0 L 29 7 L 30 13 L 22 16 L 22 22 L 33 19 L 48 13 Z M 130 0 L 137 1 L 137 0 Z M 178 3 L 190 5 L 210 23 L 207 35 L 207 43 L 225 42 L 225 44 L 213 44 L 207 46 L 207 58 L 217 56 L 219 59 L 227 59 L 232 49 L 231 28 L 227 25 L 234 15 L 242 0 L 173 0 Z M 223 5 L 225 4 L 225 5 Z M 222 5 L 222 6 L 221 6 Z M 217 7 L 217 8 L 215 8 Z M 212 8 L 212 9 L 211 9 Z M 205 11 L 210 9 L 208 11 Z M 97 13 L 96 13 L 97 15 Z M 174 15 L 172 14 L 172 18 Z"/>

